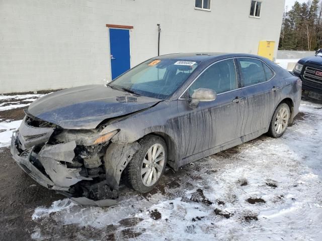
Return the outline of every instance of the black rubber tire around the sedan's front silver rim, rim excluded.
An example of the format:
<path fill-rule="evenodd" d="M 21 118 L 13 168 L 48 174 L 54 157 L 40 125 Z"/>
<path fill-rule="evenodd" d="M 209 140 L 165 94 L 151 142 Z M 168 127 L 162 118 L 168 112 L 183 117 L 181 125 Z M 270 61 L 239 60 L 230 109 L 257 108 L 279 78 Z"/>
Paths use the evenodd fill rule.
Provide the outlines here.
<path fill-rule="evenodd" d="M 162 138 L 155 135 L 148 135 L 146 137 L 143 137 L 139 141 L 139 144 L 141 145 L 141 149 L 134 154 L 132 160 L 130 161 L 130 163 L 126 168 L 127 180 L 130 187 L 135 191 L 139 193 L 147 193 L 151 191 L 158 184 L 159 180 L 161 179 L 165 171 L 165 168 L 167 165 L 167 145 Z M 148 149 L 154 144 L 160 144 L 163 146 L 165 151 L 164 152 L 165 162 L 164 162 L 162 172 L 159 178 L 157 179 L 157 181 L 151 186 L 145 186 L 142 181 L 141 168 L 143 165 L 143 159 L 147 155 Z"/>

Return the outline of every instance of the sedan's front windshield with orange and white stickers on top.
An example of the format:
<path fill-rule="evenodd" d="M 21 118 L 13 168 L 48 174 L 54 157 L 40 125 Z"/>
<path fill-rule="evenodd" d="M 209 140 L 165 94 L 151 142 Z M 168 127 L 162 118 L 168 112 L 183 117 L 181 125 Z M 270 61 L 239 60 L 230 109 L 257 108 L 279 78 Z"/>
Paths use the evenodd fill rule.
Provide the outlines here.
<path fill-rule="evenodd" d="M 166 99 L 197 68 L 198 61 L 153 59 L 143 62 L 113 80 L 108 86 L 138 95 Z"/>

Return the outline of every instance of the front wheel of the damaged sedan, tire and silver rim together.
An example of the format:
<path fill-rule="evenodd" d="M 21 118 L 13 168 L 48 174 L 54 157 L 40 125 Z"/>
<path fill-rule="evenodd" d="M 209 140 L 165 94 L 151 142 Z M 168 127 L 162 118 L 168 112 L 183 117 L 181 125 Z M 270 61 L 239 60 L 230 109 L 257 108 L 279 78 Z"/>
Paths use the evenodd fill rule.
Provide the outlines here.
<path fill-rule="evenodd" d="M 140 193 L 151 191 L 159 182 L 167 164 L 167 145 L 154 135 L 143 137 L 138 150 L 127 166 L 128 183 Z"/>

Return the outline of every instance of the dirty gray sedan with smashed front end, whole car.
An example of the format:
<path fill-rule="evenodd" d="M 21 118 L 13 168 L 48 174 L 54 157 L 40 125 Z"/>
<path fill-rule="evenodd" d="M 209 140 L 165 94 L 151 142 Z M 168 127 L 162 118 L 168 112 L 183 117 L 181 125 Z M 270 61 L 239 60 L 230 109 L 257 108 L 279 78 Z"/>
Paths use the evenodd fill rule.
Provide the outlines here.
<path fill-rule="evenodd" d="M 121 176 L 146 193 L 166 165 L 178 170 L 264 133 L 282 136 L 300 98 L 300 79 L 259 56 L 159 56 L 108 85 L 33 102 L 11 152 L 40 185 L 79 204 L 108 206 Z"/>

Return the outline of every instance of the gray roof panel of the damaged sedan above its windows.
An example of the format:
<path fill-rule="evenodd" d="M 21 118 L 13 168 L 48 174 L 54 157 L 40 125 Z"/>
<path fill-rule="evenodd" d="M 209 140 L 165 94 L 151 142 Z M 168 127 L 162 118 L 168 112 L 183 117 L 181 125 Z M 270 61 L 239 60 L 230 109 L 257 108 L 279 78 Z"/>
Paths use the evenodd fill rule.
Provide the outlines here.
<path fill-rule="evenodd" d="M 196 53 L 175 53 L 166 54 L 154 57 L 153 59 L 179 59 L 179 60 L 191 60 L 191 61 L 205 61 L 218 58 L 231 58 L 231 57 L 256 57 L 253 54 L 243 54 L 243 53 L 211 53 L 211 52 L 196 52 Z"/>

